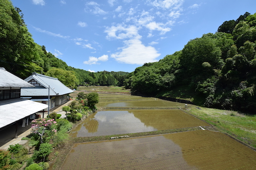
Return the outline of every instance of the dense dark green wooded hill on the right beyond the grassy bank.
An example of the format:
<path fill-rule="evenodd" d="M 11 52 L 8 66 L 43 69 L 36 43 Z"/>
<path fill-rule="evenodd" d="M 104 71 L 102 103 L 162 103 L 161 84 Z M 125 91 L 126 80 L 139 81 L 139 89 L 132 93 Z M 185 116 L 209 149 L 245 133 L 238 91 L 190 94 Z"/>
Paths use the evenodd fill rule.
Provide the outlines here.
<path fill-rule="evenodd" d="M 135 93 L 189 98 L 201 106 L 255 114 L 256 13 L 246 12 L 217 29 L 159 62 L 136 68 L 126 87 Z"/>

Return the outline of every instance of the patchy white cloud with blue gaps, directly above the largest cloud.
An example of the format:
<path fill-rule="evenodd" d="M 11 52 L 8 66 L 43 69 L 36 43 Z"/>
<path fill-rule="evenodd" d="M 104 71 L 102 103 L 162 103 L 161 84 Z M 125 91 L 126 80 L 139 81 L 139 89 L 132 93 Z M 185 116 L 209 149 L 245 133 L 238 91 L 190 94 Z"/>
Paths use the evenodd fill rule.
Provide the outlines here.
<path fill-rule="evenodd" d="M 122 26 L 120 24 L 117 26 L 106 27 L 104 32 L 108 34 L 106 36 L 107 39 L 125 39 L 139 36 L 138 28 L 136 26 Z"/>

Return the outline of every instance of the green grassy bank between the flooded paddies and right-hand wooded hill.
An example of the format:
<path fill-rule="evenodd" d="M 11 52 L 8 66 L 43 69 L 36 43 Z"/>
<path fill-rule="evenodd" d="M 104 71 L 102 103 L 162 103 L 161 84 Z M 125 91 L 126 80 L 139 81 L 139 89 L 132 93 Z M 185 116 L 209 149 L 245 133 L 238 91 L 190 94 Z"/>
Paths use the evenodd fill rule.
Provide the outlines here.
<path fill-rule="evenodd" d="M 194 105 L 183 108 L 189 114 L 195 115 L 205 122 L 214 125 L 219 131 L 249 144 L 256 149 L 256 116 L 238 113 L 236 111 L 210 109 Z"/>

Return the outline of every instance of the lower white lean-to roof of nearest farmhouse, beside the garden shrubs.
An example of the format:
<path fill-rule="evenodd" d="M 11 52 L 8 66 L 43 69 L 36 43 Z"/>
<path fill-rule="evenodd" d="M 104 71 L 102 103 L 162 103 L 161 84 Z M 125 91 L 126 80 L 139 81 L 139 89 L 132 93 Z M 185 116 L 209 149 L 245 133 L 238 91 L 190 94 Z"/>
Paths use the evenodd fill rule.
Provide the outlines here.
<path fill-rule="evenodd" d="M 48 108 L 46 104 L 27 99 L 0 101 L 0 129 L 46 108 Z"/>

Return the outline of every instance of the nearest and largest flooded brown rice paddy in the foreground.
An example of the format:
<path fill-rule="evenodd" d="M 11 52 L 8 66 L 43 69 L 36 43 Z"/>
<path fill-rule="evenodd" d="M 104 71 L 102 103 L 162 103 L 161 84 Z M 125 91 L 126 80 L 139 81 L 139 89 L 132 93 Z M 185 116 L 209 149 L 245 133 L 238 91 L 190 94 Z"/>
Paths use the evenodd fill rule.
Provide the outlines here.
<path fill-rule="evenodd" d="M 61 169 L 255 169 L 255 157 L 227 135 L 201 130 L 75 144 Z"/>

